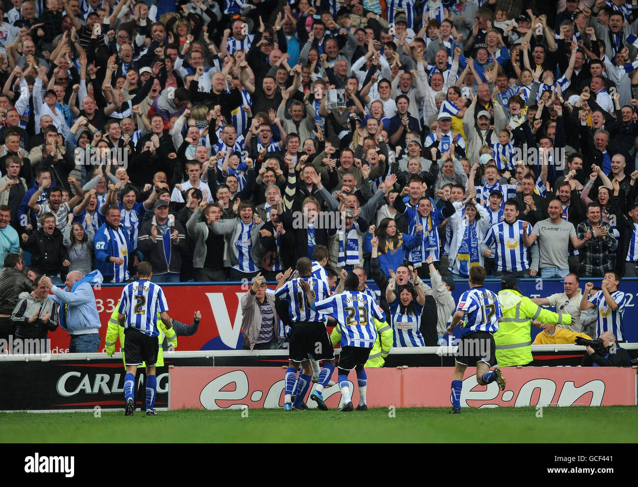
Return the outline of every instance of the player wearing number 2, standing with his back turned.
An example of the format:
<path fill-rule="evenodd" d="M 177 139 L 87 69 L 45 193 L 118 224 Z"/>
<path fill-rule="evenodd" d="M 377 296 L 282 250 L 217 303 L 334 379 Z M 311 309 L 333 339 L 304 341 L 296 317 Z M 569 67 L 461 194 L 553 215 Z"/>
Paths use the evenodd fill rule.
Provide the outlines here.
<path fill-rule="evenodd" d="M 124 328 L 124 353 L 126 354 L 126 376 L 124 377 L 124 397 L 126 409 L 124 416 L 133 416 L 135 402 L 135 372 L 137 367 L 146 363 L 146 415 L 157 416 L 154 411 L 157 391 L 155 365 L 158 360 L 159 329 L 157 316 L 167 330 L 173 324 L 168 316 L 168 304 L 161 287 L 151 282 L 152 266 L 142 262 L 137 267 L 138 280 L 122 289 L 117 322 Z"/>

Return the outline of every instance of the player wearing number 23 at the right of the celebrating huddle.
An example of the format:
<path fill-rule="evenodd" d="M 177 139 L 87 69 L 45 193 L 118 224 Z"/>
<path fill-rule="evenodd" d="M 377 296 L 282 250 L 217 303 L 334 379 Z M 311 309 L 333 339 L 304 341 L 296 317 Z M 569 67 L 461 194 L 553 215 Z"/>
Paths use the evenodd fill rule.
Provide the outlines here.
<path fill-rule="evenodd" d="M 339 411 L 352 411 L 353 409 L 350 386 L 348 385 L 348 374 L 352 369 L 357 371 L 359 395 L 363 396 L 362 405 L 357 406 L 357 411 L 367 411 L 365 405 L 367 376 L 364 365 L 376 340 L 376 327 L 373 318 L 385 321 L 385 313 L 368 294 L 357 291 L 359 276 L 353 272 L 346 276 L 346 290 L 343 293 L 334 294 L 318 302 L 315 302 L 315 296 L 313 296 L 308 283 L 302 282 L 301 287 L 311 303 L 311 308 L 319 314 L 332 316 L 342 330 L 339 388 L 341 389 L 343 405 Z M 319 387 L 320 385 L 317 386 L 317 388 Z M 323 403 L 322 390 L 316 390 L 310 396 L 318 404 Z"/>

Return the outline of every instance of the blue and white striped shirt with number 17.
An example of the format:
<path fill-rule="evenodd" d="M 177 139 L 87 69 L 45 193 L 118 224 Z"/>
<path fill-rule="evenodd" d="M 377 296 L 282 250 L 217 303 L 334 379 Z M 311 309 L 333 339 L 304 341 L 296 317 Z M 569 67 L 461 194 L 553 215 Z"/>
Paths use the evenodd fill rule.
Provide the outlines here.
<path fill-rule="evenodd" d="M 466 312 L 463 337 L 474 331 L 498 331 L 498 319 L 503 316 L 498 296 L 485 287 L 473 287 L 461 294 L 456 311 Z"/>

